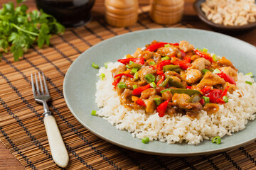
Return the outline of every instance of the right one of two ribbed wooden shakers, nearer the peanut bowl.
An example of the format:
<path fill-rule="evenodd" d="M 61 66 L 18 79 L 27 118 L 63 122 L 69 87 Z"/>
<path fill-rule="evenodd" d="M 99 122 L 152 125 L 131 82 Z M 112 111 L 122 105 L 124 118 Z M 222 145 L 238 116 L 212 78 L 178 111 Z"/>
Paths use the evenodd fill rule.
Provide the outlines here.
<path fill-rule="evenodd" d="M 181 21 L 184 0 L 151 0 L 150 16 L 160 24 L 174 24 Z"/>

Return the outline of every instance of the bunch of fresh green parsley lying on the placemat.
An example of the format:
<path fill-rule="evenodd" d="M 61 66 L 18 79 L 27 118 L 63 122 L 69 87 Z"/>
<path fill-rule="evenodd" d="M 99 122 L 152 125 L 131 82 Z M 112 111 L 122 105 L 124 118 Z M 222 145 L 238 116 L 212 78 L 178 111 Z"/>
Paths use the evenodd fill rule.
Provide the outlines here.
<path fill-rule="evenodd" d="M 51 34 L 64 33 L 65 28 L 51 15 L 42 10 L 27 13 L 26 0 L 16 0 L 3 4 L 0 10 L 0 59 L 3 52 L 13 53 L 18 61 L 33 43 L 42 47 L 50 44 Z"/>

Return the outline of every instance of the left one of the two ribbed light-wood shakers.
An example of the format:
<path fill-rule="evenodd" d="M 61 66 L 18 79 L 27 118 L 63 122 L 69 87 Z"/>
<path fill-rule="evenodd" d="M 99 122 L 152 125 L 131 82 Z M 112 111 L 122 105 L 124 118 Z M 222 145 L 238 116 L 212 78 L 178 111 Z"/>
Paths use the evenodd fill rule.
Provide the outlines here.
<path fill-rule="evenodd" d="M 105 18 L 111 26 L 132 26 L 138 20 L 138 1 L 106 0 Z"/>

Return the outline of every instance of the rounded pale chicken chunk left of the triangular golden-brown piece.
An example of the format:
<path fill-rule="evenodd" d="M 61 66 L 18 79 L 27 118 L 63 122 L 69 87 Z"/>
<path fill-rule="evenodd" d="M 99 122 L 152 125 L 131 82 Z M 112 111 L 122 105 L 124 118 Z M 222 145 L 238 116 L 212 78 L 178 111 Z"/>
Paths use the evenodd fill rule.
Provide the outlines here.
<path fill-rule="evenodd" d="M 183 81 L 186 81 L 187 84 L 194 84 L 196 81 L 202 78 L 203 74 L 198 69 L 188 69 L 186 74 L 181 76 Z"/>

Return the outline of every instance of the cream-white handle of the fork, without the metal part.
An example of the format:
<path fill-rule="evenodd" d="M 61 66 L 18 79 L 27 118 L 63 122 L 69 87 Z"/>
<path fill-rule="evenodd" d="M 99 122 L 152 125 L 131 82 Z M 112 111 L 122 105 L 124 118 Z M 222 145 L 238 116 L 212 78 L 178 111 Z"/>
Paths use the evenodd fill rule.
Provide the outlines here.
<path fill-rule="evenodd" d="M 65 168 L 65 166 L 68 165 L 68 152 L 64 145 L 63 138 L 60 135 L 56 120 L 53 115 L 46 115 L 46 117 L 43 118 L 43 121 L 46 126 L 46 133 L 53 160 L 55 164 Z"/>

